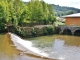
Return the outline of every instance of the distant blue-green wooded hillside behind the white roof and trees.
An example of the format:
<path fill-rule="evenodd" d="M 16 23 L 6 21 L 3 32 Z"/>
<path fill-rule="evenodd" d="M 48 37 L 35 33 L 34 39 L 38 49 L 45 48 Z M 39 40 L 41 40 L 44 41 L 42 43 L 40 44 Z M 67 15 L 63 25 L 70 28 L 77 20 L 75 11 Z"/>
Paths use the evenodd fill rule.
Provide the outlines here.
<path fill-rule="evenodd" d="M 80 13 L 80 9 L 73 8 L 73 7 L 65 7 L 65 6 L 59 6 L 52 4 L 55 15 L 56 16 L 63 16 L 63 15 L 68 15 L 68 14 L 73 14 L 73 13 Z"/>

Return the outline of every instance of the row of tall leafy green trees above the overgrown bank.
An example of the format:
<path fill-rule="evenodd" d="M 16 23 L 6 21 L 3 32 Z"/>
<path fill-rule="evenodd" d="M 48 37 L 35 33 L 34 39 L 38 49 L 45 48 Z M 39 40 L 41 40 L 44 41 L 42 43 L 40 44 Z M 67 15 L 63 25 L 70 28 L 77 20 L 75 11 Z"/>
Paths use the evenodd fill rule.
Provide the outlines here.
<path fill-rule="evenodd" d="M 23 26 L 24 22 L 48 24 L 54 21 L 53 7 L 44 1 L 31 0 L 24 4 L 22 0 L 0 1 L 0 24 L 4 26 Z M 1 26 L 2 28 L 2 26 Z"/>

